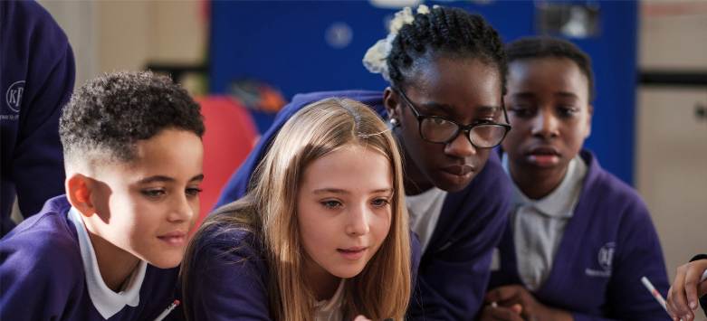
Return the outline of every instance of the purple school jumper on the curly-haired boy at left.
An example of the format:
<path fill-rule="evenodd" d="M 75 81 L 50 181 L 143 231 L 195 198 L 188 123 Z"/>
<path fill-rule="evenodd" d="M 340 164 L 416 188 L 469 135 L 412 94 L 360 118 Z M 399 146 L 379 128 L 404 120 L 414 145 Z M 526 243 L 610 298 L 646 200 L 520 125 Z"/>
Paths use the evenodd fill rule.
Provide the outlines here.
<path fill-rule="evenodd" d="M 0 241 L 0 320 L 105 320 L 89 297 L 70 209 L 64 195 L 54 197 Z M 177 273 L 148 264 L 139 305 L 109 320 L 154 320 L 176 298 Z"/>

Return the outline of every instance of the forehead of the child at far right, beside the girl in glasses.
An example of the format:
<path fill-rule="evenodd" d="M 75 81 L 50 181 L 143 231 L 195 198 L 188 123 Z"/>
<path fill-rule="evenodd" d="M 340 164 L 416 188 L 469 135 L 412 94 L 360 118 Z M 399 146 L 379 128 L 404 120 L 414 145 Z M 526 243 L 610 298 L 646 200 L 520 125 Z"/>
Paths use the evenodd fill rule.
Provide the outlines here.
<path fill-rule="evenodd" d="M 532 58 L 509 64 L 508 90 L 565 91 L 588 95 L 587 76 L 568 58 Z"/>

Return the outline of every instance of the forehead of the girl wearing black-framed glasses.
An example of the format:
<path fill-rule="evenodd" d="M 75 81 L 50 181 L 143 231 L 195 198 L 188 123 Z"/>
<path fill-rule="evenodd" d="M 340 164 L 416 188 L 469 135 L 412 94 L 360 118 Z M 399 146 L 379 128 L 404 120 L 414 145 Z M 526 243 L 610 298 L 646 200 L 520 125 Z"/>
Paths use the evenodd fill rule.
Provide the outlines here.
<path fill-rule="evenodd" d="M 408 96 L 415 96 L 416 102 L 455 109 L 501 105 L 499 70 L 478 58 L 438 57 L 418 65 L 409 80 Z"/>

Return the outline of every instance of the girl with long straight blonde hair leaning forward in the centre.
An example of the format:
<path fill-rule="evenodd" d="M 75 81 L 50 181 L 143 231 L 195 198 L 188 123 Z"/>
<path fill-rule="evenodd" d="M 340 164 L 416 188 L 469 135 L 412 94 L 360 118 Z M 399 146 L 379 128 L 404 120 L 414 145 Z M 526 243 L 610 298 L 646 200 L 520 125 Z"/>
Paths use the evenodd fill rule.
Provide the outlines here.
<path fill-rule="evenodd" d="M 182 268 L 189 319 L 402 319 L 411 247 L 395 139 L 324 99 L 282 127 L 250 193 L 209 216 Z"/>

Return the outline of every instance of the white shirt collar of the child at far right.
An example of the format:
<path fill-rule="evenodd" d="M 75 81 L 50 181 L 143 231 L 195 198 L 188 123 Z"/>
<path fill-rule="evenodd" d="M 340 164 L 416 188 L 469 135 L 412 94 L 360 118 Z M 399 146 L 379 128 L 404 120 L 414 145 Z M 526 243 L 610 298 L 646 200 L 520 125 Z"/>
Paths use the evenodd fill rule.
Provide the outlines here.
<path fill-rule="evenodd" d="M 506 173 L 510 175 L 508 154 L 503 154 L 502 165 Z M 516 205 L 530 205 L 545 215 L 568 218 L 572 216 L 577 205 L 579 193 L 582 190 L 582 182 L 586 174 L 587 165 L 584 160 L 580 156 L 575 156 L 569 161 L 567 172 L 565 177 L 562 178 L 562 182 L 550 194 L 540 200 L 532 200 L 513 183 L 511 199 Z"/>

